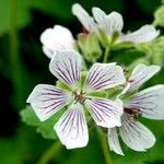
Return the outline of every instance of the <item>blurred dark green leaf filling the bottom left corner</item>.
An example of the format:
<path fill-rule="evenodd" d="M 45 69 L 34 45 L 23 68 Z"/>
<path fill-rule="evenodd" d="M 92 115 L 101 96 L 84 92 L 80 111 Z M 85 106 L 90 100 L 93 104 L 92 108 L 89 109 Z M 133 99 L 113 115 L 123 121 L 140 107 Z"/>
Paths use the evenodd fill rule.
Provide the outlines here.
<path fill-rule="evenodd" d="M 42 144 L 40 144 L 42 143 Z M 1 164 L 33 164 L 52 144 L 32 128 L 20 122 L 14 136 L 0 138 Z"/>

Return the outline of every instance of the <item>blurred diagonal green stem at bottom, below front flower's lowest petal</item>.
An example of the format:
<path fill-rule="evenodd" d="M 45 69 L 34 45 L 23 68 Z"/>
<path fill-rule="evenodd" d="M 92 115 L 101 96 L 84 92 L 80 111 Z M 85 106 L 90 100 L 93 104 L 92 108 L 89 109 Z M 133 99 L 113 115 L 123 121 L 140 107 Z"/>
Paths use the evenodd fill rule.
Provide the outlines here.
<path fill-rule="evenodd" d="M 62 145 L 60 142 L 55 142 L 38 160 L 37 164 L 48 164 L 50 160 L 55 159 L 57 153 L 61 150 Z"/>

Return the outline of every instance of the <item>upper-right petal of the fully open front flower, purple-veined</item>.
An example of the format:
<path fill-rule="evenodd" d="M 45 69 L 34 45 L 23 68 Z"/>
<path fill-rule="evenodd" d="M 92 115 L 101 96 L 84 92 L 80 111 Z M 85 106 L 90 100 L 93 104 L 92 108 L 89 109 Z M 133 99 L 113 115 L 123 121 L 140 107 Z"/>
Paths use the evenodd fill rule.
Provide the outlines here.
<path fill-rule="evenodd" d="M 102 91 L 126 82 L 121 67 L 116 63 L 94 63 L 89 71 L 85 90 Z"/>

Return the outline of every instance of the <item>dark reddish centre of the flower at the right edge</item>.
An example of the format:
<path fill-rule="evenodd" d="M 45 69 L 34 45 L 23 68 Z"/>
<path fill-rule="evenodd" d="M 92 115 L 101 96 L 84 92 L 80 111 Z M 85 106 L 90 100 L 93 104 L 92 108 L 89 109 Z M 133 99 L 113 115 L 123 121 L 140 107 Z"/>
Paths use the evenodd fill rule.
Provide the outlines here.
<path fill-rule="evenodd" d="M 139 108 L 124 108 L 124 112 L 127 113 L 133 120 L 138 120 L 142 116 L 142 112 Z"/>

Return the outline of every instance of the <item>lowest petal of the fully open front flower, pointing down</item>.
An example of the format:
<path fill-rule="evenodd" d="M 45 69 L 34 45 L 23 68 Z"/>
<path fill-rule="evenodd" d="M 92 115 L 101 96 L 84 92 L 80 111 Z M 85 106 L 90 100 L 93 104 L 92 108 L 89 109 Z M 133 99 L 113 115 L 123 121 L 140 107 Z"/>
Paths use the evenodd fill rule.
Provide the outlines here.
<path fill-rule="evenodd" d="M 82 148 L 89 142 L 87 125 L 79 103 L 72 104 L 54 128 L 67 149 Z"/>

